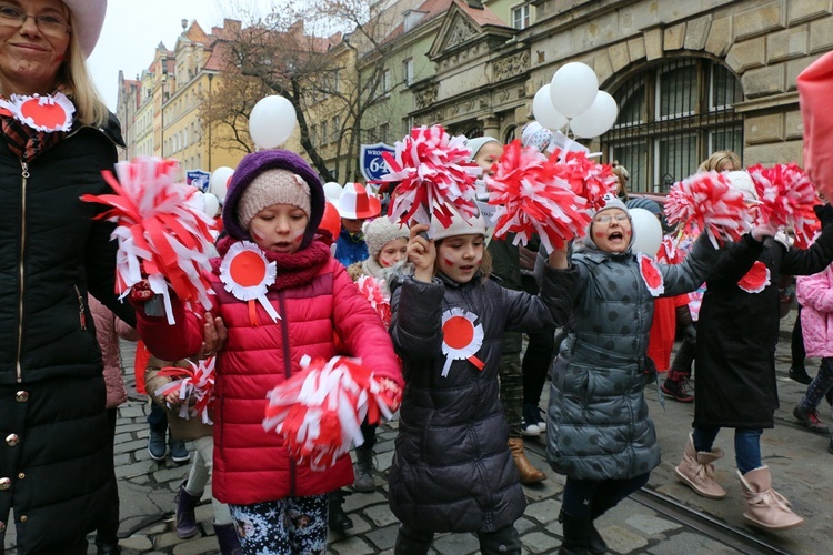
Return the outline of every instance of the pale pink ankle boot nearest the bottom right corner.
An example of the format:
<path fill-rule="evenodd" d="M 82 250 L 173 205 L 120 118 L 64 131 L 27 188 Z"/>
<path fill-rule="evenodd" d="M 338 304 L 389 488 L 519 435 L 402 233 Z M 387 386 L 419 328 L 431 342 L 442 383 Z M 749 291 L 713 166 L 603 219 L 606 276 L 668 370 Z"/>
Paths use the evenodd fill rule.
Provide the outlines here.
<path fill-rule="evenodd" d="M 769 466 L 761 466 L 746 474 L 737 471 L 743 493 L 746 495 L 746 511 L 743 517 L 750 524 L 777 532 L 804 524 L 804 518 L 793 513 L 790 502 L 772 488 Z"/>

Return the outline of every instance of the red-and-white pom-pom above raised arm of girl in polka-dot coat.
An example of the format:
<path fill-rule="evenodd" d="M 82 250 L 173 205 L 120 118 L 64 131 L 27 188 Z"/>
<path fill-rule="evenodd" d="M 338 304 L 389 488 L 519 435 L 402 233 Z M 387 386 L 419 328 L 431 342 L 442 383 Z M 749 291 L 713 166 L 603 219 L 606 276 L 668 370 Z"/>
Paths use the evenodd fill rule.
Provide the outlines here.
<path fill-rule="evenodd" d="M 717 248 L 724 240 L 737 241 L 752 226 L 743 192 L 715 171 L 699 172 L 674 183 L 665 198 L 669 224 L 694 223 Z"/>

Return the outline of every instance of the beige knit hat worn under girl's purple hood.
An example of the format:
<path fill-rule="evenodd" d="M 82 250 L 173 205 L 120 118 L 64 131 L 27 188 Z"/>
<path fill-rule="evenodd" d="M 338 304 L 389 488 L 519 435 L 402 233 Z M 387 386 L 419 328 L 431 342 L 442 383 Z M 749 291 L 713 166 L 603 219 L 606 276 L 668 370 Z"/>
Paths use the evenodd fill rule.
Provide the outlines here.
<path fill-rule="evenodd" d="M 288 170 L 267 170 L 252 180 L 238 202 L 238 221 L 243 229 L 254 214 L 272 204 L 291 204 L 310 215 L 310 185 Z"/>

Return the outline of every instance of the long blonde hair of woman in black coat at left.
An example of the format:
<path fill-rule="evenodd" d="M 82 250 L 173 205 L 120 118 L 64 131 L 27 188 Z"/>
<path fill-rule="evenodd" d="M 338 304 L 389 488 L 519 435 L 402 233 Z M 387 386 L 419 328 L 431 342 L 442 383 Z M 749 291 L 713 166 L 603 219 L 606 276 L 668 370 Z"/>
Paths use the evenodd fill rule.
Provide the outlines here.
<path fill-rule="evenodd" d="M 69 17 L 70 26 L 74 27 L 72 11 Z M 78 43 L 76 33 L 70 33 L 68 54 L 58 69 L 56 84 L 61 92 L 72 99 L 79 122 L 84 125 L 103 127 L 110 119 L 110 110 L 107 109 L 96 84 L 90 79 L 87 58 Z"/>

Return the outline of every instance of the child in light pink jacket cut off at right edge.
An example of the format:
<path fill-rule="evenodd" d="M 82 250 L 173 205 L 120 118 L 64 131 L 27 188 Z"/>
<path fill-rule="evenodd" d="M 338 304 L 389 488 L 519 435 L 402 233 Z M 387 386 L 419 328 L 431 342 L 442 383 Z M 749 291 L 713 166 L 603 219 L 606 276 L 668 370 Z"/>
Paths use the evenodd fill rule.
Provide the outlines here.
<path fill-rule="evenodd" d="M 833 224 L 833 206 L 816 206 L 822 226 Z M 821 356 L 822 363 L 807 391 L 793 410 L 793 416 L 813 432 L 826 434 L 827 426 L 819 418 L 819 403 L 833 389 L 833 264 L 813 275 L 796 279 L 801 305 L 801 331 L 807 356 Z M 833 454 L 833 437 L 827 445 Z"/>

